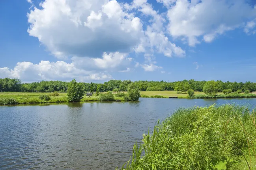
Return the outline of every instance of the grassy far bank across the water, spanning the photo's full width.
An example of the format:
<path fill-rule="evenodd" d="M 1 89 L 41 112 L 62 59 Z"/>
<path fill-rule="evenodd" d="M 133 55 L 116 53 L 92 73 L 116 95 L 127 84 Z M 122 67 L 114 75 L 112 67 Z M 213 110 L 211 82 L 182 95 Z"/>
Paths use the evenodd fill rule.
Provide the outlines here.
<path fill-rule="evenodd" d="M 55 96 L 50 92 L 0 92 L 0 105 L 12 105 L 12 104 L 35 104 L 35 103 L 63 103 L 68 102 L 67 93 L 57 93 Z M 100 93 L 106 94 L 106 92 Z M 42 100 L 39 98 L 41 95 L 49 96 L 49 100 Z M 113 93 L 114 100 L 127 101 L 127 92 Z M 223 94 L 219 92 L 217 96 L 208 96 L 203 92 L 195 92 L 194 96 L 189 97 L 187 93 L 176 93 L 174 91 L 155 91 L 155 92 L 140 92 L 141 98 L 168 98 L 169 96 L 177 96 L 178 98 L 185 99 L 207 99 L 207 98 L 256 98 L 256 94 L 240 93 L 240 94 Z M 129 99 L 128 99 L 129 100 Z M 101 99 L 99 96 L 86 96 L 80 100 L 80 102 L 96 102 L 96 101 L 108 101 L 108 99 Z"/>

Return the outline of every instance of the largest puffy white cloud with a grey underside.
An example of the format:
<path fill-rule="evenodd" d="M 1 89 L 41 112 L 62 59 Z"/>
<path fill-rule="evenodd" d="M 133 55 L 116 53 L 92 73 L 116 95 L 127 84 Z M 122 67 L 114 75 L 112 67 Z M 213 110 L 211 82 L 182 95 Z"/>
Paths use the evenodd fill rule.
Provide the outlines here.
<path fill-rule="evenodd" d="M 140 18 L 116 0 L 45 0 L 28 13 L 28 33 L 57 57 L 130 52 L 143 37 Z"/>

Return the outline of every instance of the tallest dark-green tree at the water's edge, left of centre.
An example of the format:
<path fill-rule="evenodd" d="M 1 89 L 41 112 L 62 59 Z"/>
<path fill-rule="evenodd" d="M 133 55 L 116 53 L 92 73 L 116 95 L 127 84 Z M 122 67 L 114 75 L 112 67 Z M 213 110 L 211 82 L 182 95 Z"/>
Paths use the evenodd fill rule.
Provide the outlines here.
<path fill-rule="evenodd" d="M 77 83 L 75 79 L 73 79 L 67 87 L 67 100 L 69 102 L 80 101 L 84 96 L 84 91 L 82 84 Z"/>

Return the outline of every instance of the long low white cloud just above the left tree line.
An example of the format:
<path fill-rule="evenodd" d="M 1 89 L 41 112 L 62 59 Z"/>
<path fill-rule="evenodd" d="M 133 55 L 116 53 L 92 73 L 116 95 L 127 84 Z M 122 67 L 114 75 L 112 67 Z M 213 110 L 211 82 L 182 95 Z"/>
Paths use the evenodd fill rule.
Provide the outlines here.
<path fill-rule="evenodd" d="M 52 62 L 41 61 L 39 64 L 31 62 L 17 63 L 14 69 L 0 68 L 0 77 L 19 78 L 22 81 L 41 81 L 41 80 L 62 80 L 70 81 L 75 78 L 78 81 L 93 81 L 111 79 L 110 74 L 103 72 L 93 73 L 78 69 L 73 63 L 64 61 Z"/>

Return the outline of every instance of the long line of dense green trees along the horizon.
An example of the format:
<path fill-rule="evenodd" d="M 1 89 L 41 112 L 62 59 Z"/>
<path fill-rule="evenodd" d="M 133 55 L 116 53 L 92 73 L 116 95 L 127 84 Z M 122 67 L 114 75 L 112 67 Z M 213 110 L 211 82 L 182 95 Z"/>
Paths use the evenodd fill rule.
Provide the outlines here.
<path fill-rule="evenodd" d="M 140 91 L 177 91 L 186 92 L 189 89 L 194 91 L 203 91 L 204 85 L 207 81 L 196 81 L 194 79 L 166 82 L 166 81 L 134 81 L 131 80 L 110 80 L 104 83 L 83 83 L 84 92 L 107 92 L 107 91 L 127 91 L 128 86 L 132 83 L 133 87 Z M 225 89 L 231 89 L 233 92 L 237 90 L 250 92 L 256 91 L 256 83 L 247 81 L 243 82 L 223 82 L 215 81 L 217 90 L 222 92 Z M 22 83 L 19 79 L 0 78 L 1 92 L 67 92 L 69 82 L 65 81 L 40 81 L 33 83 Z M 98 89 L 98 90 L 97 90 Z"/>

